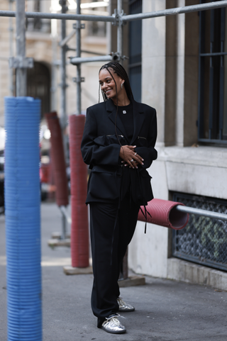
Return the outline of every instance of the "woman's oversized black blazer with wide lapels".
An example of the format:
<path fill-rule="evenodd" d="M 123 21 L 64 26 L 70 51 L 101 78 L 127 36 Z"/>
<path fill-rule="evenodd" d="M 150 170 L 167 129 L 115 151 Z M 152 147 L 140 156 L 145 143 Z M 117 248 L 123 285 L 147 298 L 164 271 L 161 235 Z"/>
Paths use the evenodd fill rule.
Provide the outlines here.
<path fill-rule="evenodd" d="M 83 160 L 89 164 L 92 172 L 88 182 L 86 203 L 119 199 L 123 186 L 122 174 L 126 172 L 126 168 L 127 178 L 131 177 L 133 201 L 146 205 L 153 199 L 150 175 L 145 169 L 157 159 L 157 151 L 154 148 L 157 138 L 156 111 L 146 104 L 140 104 L 133 99 L 131 101 L 134 123 L 131 141 L 126 137 L 121 118 L 119 116 L 116 118 L 116 106 L 111 99 L 87 108 L 81 150 Z M 129 169 L 121 164 L 119 157 L 121 145 L 118 139 L 121 145 L 137 146 L 135 151 L 143 157 L 143 166 L 138 166 L 138 169 Z"/>

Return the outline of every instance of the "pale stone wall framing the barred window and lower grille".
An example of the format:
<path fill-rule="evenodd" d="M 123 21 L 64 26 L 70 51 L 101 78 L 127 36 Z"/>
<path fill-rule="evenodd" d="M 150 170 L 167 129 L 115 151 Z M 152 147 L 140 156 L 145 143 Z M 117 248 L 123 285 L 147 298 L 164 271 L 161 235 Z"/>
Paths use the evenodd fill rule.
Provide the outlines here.
<path fill-rule="evenodd" d="M 143 12 L 165 9 L 165 1 L 143 0 Z M 178 6 L 185 6 L 178 0 Z M 177 91 L 175 145 L 165 147 L 165 17 L 143 20 L 142 101 L 157 110 L 158 157 L 148 169 L 157 199 L 170 191 L 227 199 L 227 149 L 184 145 L 185 16 L 177 16 Z M 168 229 L 138 222 L 128 252 L 128 264 L 139 274 L 167 277 L 224 289 L 223 272 L 184 262 L 168 255 Z M 170 257 L 170 258 L 168 258 Z M 192 269 L 193 268 L 193 269 Z M 206 274 L 205 274 L 206 273 Z M 220 276 L 220 281 L 219 277 Z M 214 280 L 210 278 L 214 278 Z"/>

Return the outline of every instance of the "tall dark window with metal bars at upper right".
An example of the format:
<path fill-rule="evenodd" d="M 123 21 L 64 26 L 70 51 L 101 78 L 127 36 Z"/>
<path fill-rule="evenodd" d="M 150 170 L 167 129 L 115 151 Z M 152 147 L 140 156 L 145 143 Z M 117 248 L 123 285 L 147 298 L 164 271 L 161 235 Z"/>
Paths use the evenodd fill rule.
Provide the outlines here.
<path fill-rule="evenodd" d="M 226 95 L 227 9 L 201 11 L 199 13 L 198 121 L 200 142 L 227 144 Z"/>

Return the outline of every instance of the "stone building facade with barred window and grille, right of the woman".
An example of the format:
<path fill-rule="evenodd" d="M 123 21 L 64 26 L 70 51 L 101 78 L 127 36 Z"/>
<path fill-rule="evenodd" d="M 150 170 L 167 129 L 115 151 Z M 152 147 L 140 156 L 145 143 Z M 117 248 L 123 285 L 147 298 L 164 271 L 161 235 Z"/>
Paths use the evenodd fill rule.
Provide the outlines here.
<path fill-rule="evenodd" d="M 143 0 L 143 12 L 209 1 Z M 226 9 L 142 22 L 141 100 L 157 110 L 155 198 L 227 213 Z M 130 42 L 129 42 L 130 44 Z M 144 223 L 129 248 L 137 273 L 227 287 L 226 222 L 191 215 L 175 232 Z"/>

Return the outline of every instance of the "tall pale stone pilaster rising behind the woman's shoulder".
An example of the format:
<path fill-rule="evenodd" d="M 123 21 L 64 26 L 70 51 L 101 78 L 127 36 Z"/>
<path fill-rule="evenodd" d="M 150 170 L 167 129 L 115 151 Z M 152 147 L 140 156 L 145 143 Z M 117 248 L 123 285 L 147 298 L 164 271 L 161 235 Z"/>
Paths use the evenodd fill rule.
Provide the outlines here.
<path fill-rule="evenodd" d="M 165 9 L 165 0 L 143 1 L 143 12 Z M 157 110 L 157 142 L 165 133 L 165 17 L 142 23 L 142 102 Z"/>

